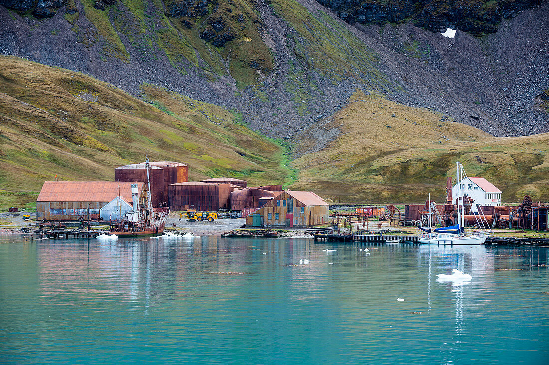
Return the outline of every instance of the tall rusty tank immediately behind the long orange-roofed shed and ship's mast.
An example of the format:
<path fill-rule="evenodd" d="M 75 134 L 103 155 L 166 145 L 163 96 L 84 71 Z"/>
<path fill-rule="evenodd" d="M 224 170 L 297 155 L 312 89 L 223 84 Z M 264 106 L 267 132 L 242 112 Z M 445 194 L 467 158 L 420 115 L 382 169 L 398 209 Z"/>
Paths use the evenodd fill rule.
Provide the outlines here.
<path fill-rule="evenodd" d="M 164 196 L 164 169 L 158 166 L 149 166 L 150 198 L 154 207 L 165 203 Z M 145 162 L 124 165 L 114 169 L 115 181 L 144 181 L 147 189 L 147 168 Z"/>

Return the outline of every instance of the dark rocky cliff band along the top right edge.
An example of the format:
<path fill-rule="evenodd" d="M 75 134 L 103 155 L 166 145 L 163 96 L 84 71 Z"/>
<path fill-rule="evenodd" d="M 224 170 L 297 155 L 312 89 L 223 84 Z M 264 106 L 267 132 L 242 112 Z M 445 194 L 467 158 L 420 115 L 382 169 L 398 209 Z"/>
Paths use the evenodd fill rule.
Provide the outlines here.
<path fill-rule="evenodd" d="M 411 20 L 431 31 L 447 27 L 473 35 L 495 33 L 502 19 L 511 19 L 542 0 L 317 0 L 349 24 L 399 23 Z"/>

